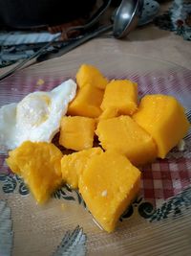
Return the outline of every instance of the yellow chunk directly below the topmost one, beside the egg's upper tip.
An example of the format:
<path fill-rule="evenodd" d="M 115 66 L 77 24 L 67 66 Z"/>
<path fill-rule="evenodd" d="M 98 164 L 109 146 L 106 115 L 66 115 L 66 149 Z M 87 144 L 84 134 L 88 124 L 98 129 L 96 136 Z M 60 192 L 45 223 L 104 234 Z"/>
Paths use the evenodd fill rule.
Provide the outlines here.
<path fill-rule="evenodd" d="M 90 83 L 80 88 L 74 101 L 68 107 L 68 115 L 98 117 L 101 113 L 100 105 L 103 99 L 103 90 Z"/>

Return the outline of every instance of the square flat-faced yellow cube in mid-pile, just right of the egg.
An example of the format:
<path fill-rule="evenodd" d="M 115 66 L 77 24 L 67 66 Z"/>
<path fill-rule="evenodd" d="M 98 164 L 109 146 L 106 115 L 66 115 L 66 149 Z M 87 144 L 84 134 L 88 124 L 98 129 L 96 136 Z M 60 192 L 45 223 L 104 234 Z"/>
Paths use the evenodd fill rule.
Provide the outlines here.
<path fill-rule="evenodd" d="M 64 116 L 60 125 L 59 144 L 82 151 L 93 147 L 96 120 L 82 116 Z"/>

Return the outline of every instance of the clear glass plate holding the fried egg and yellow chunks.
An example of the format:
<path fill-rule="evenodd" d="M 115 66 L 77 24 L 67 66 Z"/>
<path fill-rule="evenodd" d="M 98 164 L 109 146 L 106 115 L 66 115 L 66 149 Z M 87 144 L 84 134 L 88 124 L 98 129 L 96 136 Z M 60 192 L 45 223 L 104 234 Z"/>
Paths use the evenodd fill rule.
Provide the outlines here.
<path fill-rule="evenodd" d="M 109 79 L 138 82 L 138 94 L 177 97 L 191 109 L 191 72 L 172 63 L 115 51 L 79 52 L 33 65 L 0 82 L 0 105 L 73 78 L 81 63 L 96 65 Z M 23 180 L 0 156 L 0 255 L 190 255 L 191 141 L 183 151 L 142 168 L 141 191 L 107 234 L 76 191 L 63 187 L 37 205 Z"/>

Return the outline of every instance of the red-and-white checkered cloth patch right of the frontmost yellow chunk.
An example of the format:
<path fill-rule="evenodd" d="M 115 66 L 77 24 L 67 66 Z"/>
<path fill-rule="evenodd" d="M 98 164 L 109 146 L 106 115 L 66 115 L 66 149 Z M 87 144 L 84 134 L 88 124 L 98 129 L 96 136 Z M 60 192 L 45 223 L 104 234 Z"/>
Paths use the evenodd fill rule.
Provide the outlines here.
<path fill-rule="evenodd" d="M 142 168 L 141 196 L 154 205 L 171 198 L 191 183 L 191 158 L 159 159 Z"/>

